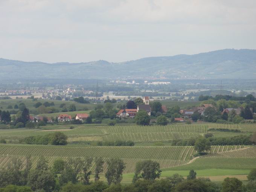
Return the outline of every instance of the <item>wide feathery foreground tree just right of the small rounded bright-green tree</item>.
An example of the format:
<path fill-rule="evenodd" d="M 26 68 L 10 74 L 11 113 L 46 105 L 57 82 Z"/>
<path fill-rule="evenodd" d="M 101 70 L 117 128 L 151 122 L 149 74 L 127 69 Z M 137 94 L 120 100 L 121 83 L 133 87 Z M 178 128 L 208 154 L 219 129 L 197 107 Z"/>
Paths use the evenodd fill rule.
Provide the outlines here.
<path fill-rule="evenodd" d="M 69 158 L 65 163 L 64 170 L 62 171 L 59 177 L 59 183 L 62 185 L 64 183 L 75 184 L 78 182 L 78 174 L 81 171 L 81 158 Z"/>

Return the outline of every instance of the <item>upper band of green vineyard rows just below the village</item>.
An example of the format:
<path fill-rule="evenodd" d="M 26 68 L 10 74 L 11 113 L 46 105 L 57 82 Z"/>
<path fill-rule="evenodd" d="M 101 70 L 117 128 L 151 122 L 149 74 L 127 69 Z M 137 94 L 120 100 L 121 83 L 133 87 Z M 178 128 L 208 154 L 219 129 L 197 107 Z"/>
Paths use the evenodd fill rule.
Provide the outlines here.
<path fill-rule="evenodd" d="M 70 126 L 75 126 L 70 130 Z M 0 130 L 0 137 L 8 140 L 18 140 L 26 136 L 38 136 L 61 131 L 68 136 L 69 142 L 83 141 L 116 141 L 132 140 L 134 142 L 147 141 L 170 141 L 174 139 L 189 139 L 207 133 L 209 128 L 239 129 L 241 133 L 212 131 L 216 137 L 232 137 L 239 134 L 251 134 L 256 131 L 256 124 L 248 123 L 243 125 L 234 124 L 170 124 L 166 126 L 138 126 L 138 125 L 116 125 L 116 126 L 88 126 L 88 125 L 47 125 L 42 129 L 11 129 Z"/>

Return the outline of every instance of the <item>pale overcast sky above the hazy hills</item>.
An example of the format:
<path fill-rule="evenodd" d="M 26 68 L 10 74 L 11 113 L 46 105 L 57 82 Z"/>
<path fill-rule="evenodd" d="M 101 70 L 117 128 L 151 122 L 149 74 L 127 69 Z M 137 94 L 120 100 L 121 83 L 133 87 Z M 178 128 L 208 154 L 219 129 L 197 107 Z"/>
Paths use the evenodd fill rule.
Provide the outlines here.
<path fill-rule="evenodd" d="M 256 49 L 255 0 L 0 0 L 0 58 L 130 61 Z"/>

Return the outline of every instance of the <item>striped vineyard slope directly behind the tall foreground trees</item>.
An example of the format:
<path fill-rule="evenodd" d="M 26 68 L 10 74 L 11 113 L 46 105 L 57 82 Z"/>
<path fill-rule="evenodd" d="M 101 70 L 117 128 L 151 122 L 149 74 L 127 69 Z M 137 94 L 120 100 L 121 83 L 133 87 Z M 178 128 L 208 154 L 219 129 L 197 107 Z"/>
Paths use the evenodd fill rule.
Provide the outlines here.
<path fill-rule="evenodd" d="M 238 150 L 246 146 L 212 146 L 211 152 Z M 234 152 L 235 152 L 234 151 Z M 244 149 L 245 151 L 245 149 Z M 103 157 L 122 158 L 126 163 L 125 173 L 134 172 L 136 162 L 145 159 L 155 160 L 161 168 L 185 165 L 194 154 L 191 146 L 155 146 L 155 147 L 82 147 L 82 146 L 47 146 L 47 145 L 0 145 L 0 167 L 6 168 L 12 157 L 25 162 L 26 155 L 31 155 L 33 167 L 40 156 L 46 157 L 50 165 L 56 158 Z M 106 165 L 104 165 L 104 171 Z M 93 167 L 92 167 L 93 171 Z"/>

